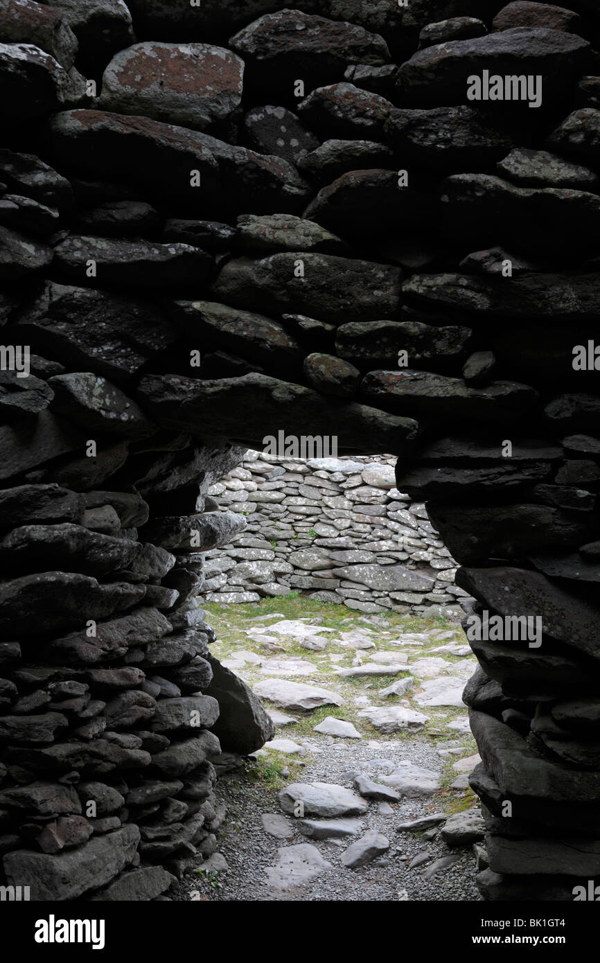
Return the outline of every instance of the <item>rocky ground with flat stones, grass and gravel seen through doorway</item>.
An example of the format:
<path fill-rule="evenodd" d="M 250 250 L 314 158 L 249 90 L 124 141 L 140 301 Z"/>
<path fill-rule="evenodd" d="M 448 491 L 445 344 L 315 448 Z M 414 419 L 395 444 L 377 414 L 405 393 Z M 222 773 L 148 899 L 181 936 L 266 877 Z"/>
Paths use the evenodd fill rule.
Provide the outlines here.
<path fill-rule="evenodd" d="M 479 756 L 460 698 L 477 663 L 459 626 L 304 597 L 207 608 L 214 653 L 276 734 L 220 779 L 220 852 L 184 897 L 478 899 Z"/>

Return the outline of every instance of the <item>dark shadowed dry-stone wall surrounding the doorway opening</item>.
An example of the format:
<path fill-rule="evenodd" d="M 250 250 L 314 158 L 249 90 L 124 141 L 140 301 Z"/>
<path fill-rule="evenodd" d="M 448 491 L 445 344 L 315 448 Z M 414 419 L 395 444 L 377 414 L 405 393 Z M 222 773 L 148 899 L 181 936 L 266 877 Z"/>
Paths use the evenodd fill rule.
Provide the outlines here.
<path fill-rule="evenodd" d="M 214 847 L 217 769 L 272 729 L 207 651 L 202 553 L 245 519 L 206 493 L 283 430 L 396 455 L 479 611 L 541 620 L 472 642 L 479 884 L 571 899 L 600 880 L 597 5 L 299 7 L 0 11 L 3 873 L 164 898 Z M 467 96 L 496 74 L 541 103 Z"/>

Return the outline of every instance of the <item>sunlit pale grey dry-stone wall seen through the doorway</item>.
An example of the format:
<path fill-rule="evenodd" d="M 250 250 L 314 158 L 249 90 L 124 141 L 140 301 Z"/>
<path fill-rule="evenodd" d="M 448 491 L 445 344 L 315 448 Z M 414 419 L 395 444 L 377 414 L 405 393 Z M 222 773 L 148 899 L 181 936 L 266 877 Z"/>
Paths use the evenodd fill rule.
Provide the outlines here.
<path fill-rule="evenodd" d="M 248 451 L 212 485 L 248 525 L 205 553 L 208 602 L 258 602 L 300 590 L 358 612 L 459 619 L 456 562 L 423 504 L 396 488 L 396 458 L 291 459 Z"/>

